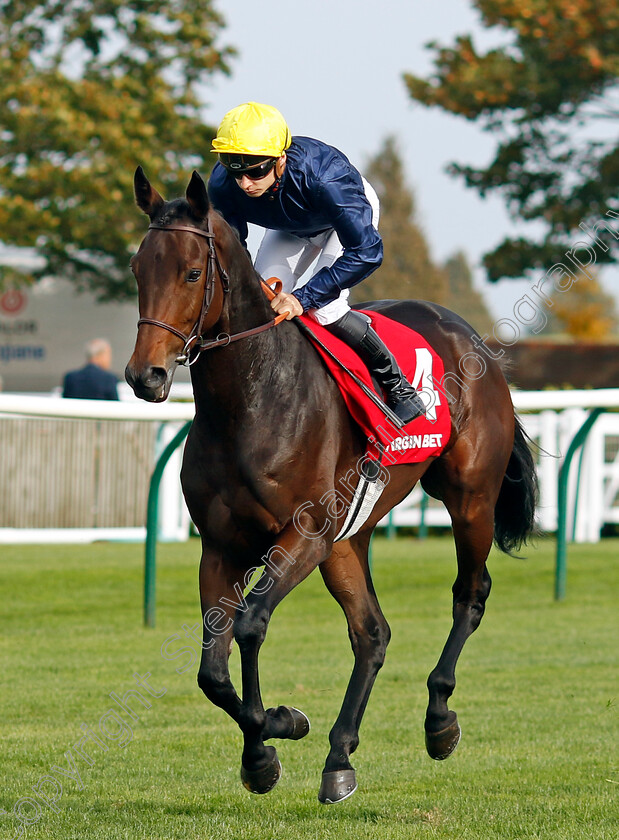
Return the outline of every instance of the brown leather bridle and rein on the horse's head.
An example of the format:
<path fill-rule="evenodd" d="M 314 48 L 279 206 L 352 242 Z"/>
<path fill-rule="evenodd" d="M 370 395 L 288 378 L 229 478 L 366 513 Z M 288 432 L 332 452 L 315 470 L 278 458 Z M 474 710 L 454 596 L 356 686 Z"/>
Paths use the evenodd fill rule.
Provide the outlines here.
<path fill-rule="evenodd" d="M 204 331 L 204 324 L 209 308 L 215 296 L 215 269 L 217 269 L 219 279 L 221 280 L 223 294 L 226 295 L 230 291 L 230 277 L 228 276 L 228 273 L 225 270 L 225 268 L 222 266 L 217 255 L 217 251 L 215 250 L 215 234 L 211 229 L 211 220 L 207 217 L 206 230 L 203 230 L 199 227 L 195 227 L 194 225 L 156 224 L 150 224 L 148 226 L 148 229 L 170 231 L 180 230 L 185 231 L 187 233 L 195 233 L 198 236 L 203 236 L 205 239 L 208 240 L 208 259 L 206 263 L 206 280 L 204 283 L 204 296 L 202 298 L 202 308 L 200 310 L 200 316 L 189 335 L 186 335 L 184 332 L 181 332 L 176 327 L 173 327 L 171 324 L 166 324 L 164 321 L 157 321 L 155 320 L 155 318 L 140 318 L 140 320 L 138 321 L 138 329 L 141 327 L 142 324 L 150 324 L 154 327 L 161 327 L 161 329 L 167 330 L 168 332 L 173 333 L 173 335 L 176 335 L 178 336 L 178 338 L 181 339 L 181 341 L 183 342 L 183 349 L 176 358 L 177 364 L 186 364 L 189 367 L 198 360 L 200 353 L 202 353 L 204 350 L 213 350 L 216 347 L 227 347 L 228 344 L 231 344 L 233 341 L 239 341 L 241 338 L 248 338 L 251 335 L 257 335 L 258 333 L 264 332 L 265 330 L 269 330 L 271 329 L 271 327 L 274 327 L 282 320 L 281 316 L 278 316 L 277 318 L 273 318 L 273 320 L 269 321 L 266 324 L 261 324 L 259 327 L 254 327 L 250 330 L 244 330 L 240 333 L 234 333 L 233 335 L 228 335 L 228 333 L 220 333 L 217 336 L 217 338 L 204 338 L 204 336 L 202 335 Z M 190 360 L 190 353 L 192 349 L 197 349 L 198 352 L 193 357 L 193 359 Z"/>

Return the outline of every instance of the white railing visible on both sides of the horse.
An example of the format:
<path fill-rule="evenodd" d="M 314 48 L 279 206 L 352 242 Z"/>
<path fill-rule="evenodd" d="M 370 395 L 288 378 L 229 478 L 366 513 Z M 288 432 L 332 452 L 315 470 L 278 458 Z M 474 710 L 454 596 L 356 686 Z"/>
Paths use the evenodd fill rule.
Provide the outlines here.
<path fill-rule="evenodd" d="M 186 399 L 188 387 L 177 388 L 173 396 Z M 127 396 L 124 395 L 123 396 Z M 557 483 L 562 459 L 575 432 L 582 425 L 588 409 L 619 407 L 619 389 L 595 391 L 514 391 L 514 404 L 529 436 L 539 445 L 540 505 L 538 519 L 544 531 L 557 527 Z M 191 402 L 168 401 L 150 404 L 127 396 L 118 403 L 91 400 L 50 399 L 43 396 L 0 394 L 2 417 L 62 417 L 95 420 L 140 420 L 161 424 L 157 450 L 161 451 L 176 434 L 183 421 L 192 419 Z M 161 490 L 160 535 L 163 539 L 185 539 L 189 533 L 189 516 L 180 491 L 181 450 L 171 458 Z M 156 453 L 155 453 L 156 456 Z M 0 488 L 4 492 L 10 488 Z M 605 524 L 619 522 L 619 414 L 603 414 L 593 427 L 577 458 L 570 479 L 568 506 L 568 538 L 594 542 Z M 419 487 L 392 512 L 381 525 L 394 527 L 449 527 L 445 508 L 430 500 L 421 504 Z M 577 513 L 573 512 L 577 501 Z M 422 514 L 423 509 L 423 514 Z M 0 523 L 1 525 L 1 523 Z M 143 539 L 144 528 L 132 529 L 10 529 L 0 527 L 0 542 L 88 541 L 91 539 Z"/>

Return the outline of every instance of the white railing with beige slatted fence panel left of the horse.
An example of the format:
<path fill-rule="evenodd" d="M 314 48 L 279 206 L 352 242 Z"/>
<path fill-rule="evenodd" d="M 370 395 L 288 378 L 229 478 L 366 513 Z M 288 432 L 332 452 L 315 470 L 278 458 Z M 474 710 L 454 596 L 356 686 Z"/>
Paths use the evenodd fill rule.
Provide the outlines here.
<path fill-rule="evenodd" d="M 186 399 L 187 389 L 175 387 L 173 396 Z M 5 453 L 0 543 L 143 541 L 150 473 L 193 415 L 193 402 L 153 405 L 135 398 L 106 402 L 0 394 L 0 449 Z M 189 535 L 181 457 L 179 449 L 161 487 L 158 530 L 163 540 Z M 124 506 L 132 516 L 124 515 Z"/>

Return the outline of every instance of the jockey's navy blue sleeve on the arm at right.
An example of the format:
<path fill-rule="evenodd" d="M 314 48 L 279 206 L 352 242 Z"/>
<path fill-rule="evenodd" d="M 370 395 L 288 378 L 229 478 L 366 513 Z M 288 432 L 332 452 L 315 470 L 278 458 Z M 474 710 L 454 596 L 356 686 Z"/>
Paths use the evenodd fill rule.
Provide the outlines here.
<path fill-rule="evenodd" d="M 369 277 L 383 261 L 383 241 L 372 224 L 372 207 L 362 183 L 348 175 L 323 182 L 317 200 L 331 220 L 344 253 L 294 292 L 304 311 L 326 306 L 343 289 Z"/>

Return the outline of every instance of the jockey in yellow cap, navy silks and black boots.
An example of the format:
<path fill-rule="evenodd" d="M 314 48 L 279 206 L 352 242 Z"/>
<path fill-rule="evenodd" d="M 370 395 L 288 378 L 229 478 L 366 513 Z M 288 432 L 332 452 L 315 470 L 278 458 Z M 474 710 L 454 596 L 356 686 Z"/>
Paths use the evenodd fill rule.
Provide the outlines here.
<path fill-rule="evenodd" d="M 282 283 L 273 309 L 289 319 L 307 312 L 346 342 L 402 423 L 423 414 L 423 401 L 369 318 L 348 305 L 349 289 L 382 262 L 372 187 L 333 146 L 291 137 L 280 112 L 257 102 L 225 115 L 211 151 L 219 156 L 208 186 L 214 206 L 246 248 L 248 223 L 266 228 L 255 268 Z M 316 258 L 311 278 L 296 288 Z"/>

